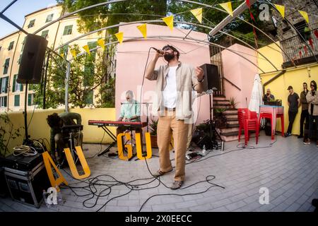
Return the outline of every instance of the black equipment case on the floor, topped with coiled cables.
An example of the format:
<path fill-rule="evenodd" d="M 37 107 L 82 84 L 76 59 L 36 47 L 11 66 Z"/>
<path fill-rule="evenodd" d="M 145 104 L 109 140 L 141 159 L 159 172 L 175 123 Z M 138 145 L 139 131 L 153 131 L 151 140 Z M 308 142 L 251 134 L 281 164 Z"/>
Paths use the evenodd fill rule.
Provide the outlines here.
<path fill-rule="evenodd" d="M 40 208 L 43 190 L 51 186 L 43 161 L 31 170 L 4 167 L 4 176 L 13 200 Z"/>

